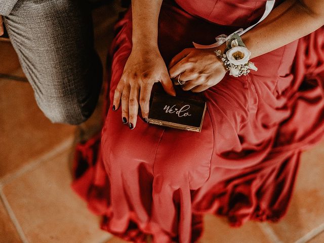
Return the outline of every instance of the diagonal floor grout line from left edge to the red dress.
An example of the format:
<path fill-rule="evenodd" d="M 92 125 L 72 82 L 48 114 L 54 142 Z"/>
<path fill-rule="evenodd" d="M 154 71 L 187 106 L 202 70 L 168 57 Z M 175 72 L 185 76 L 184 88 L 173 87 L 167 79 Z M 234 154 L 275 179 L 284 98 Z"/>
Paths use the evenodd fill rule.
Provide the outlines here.
<path fill-rule="evenodd" d="M 69 146 L 73 144 L 74 141 L 74 135 L 67 138 L 64 142 L 60 143 L 56 147 L 54 147 L 50 152 L 47 152 L 38 158 L 30 160 L 30 162 L 23 166 L 22 168 L 18 169 L 17 171 L 10 173 L 3 178 L 0 179 L 0 186 L 4 186 L 14 179 L 18 178 L 19 176 L 23 175 L 24 173 L 36 168 L 39 164 L 43 163 L 44 161 L 49 160 L 50 158 L 54 157 L 58 153 L 61 153 L 65 149 L 67 149 Z"/>

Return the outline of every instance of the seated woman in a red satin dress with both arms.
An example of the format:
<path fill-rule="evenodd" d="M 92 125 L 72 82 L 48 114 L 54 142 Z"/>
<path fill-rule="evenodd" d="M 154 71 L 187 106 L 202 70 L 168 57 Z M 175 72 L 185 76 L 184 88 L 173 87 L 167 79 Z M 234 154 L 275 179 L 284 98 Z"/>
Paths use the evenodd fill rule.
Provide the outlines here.
<path fill-rule="evenodd" d="M 72 184 L 102 229 L 135 242 L 151 234 L 188 243 L 200 237 L 204 213 L 233 226 L 285 215 L 301 151 L 324 133 L 324 1 L 276 1 L 241 36 L 258 67 L 247 76 L 226 73 L 214 53 L 225 44 L 192 45 L 257 23 L 265 6 L 134 0 L 119 18 L 104 127 L 78 144 Z M 185 85 L 173 86 L 180 73 Z M 203 96 L 201 133 L 148 125 L 152 90 Z"/>

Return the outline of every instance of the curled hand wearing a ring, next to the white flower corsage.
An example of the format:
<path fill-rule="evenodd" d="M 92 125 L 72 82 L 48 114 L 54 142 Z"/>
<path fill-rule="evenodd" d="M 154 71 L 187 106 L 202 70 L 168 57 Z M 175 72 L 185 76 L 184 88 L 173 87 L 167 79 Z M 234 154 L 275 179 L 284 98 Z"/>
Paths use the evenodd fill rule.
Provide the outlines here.
<path fill-rule="evenodd" d="M 218 84 L 225 76 L 226 69 L 214 50 L 186 48 L 177 54 L 169 64 L 169 74 L 175 78 L 175 85 L 179 85 L 179 74 L 179 80 L 185 82 L 182 85 L 185 91 L 202 92 Z"/>

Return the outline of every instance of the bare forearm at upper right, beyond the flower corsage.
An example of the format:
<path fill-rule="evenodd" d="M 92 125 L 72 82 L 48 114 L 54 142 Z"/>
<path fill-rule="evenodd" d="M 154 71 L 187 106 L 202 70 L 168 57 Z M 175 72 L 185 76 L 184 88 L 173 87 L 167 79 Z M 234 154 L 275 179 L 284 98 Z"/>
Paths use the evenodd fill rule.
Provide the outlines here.
<path fill-rule="evenodd" d="M 324 25 L 324 1 L 288 0 L 274 9 L 260 24 L 243 34 L 242 41 L 251 51 L 251 58 L 260 56 Z"/>

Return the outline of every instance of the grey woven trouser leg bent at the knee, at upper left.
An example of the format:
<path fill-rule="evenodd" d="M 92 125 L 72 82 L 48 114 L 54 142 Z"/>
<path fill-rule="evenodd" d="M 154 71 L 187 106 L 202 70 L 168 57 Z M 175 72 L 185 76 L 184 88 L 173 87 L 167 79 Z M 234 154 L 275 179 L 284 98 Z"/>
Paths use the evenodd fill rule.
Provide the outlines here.
<path fill-rule="evenodd" d="M 39 108 L 53 123 L 79 124 L 93 113 L 102 66 L 83 0 L 18 0 L 5 17 Z"/>

